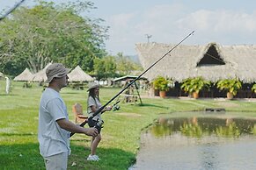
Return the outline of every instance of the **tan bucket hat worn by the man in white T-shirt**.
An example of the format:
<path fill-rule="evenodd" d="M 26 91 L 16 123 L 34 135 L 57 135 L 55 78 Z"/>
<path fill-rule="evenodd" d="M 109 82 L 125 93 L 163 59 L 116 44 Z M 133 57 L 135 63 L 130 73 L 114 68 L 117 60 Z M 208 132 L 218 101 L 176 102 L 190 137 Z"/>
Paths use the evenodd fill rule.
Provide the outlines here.
<path fill-rule="evenodd" d="M 69 73 L 69 71 L 70 71 L 70 69 L 65 68 L 62 65 L 62 63 L 53 63 L 46 70 L 48 79 L 45 82 L 49 83 L 55 77 L 60 78 L 60 77 L 66 76 Z"/>

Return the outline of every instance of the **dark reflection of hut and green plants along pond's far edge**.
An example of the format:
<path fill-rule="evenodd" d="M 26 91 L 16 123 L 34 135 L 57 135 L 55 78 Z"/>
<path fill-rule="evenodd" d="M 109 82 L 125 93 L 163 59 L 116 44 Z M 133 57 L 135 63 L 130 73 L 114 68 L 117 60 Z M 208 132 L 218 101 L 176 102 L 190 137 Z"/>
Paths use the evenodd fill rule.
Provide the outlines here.
<path fill-rule="evenodd" d="M 187 137 L 201 138 L 203 135 L 216 135 L 217 137 L 238 138 L 242 134 L 256 134 L 256 121 L 240 118 L 159 118 L 150 128 L 156 137 L 172 135 L 180 131 Z"/>

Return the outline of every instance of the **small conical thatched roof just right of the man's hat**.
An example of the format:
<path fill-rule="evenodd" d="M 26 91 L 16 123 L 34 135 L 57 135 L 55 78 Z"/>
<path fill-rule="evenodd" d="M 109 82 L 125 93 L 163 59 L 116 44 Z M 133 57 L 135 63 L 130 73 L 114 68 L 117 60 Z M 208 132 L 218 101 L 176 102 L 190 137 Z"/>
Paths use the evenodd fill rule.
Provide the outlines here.
<path fill-rule="evenodd" d="M 69 81 L 94 81 L 91 75 L 84 73 L 81 67 L 77 66 L 69 74 Z"/>

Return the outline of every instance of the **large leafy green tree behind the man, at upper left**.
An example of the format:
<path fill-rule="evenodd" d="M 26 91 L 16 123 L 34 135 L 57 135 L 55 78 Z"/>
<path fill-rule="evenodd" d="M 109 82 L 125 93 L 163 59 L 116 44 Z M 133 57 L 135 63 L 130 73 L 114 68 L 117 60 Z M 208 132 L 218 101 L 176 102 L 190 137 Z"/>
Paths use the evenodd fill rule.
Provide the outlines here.
<path fill-rule="evenodd" d="M 93 8 L 90 2 L 58 6 L 43 1 L 33 8 L 18 8 L 0 23 L 0 71 L 18 74 L 13 73 L 15 67 L 29 67 L 37 72 L 51 61 L 92 71 L 93 60 L 103 55 L 97 53 L 105 52 L 108 30 L 100 25 L 102 19 L 78 15 Z"/>

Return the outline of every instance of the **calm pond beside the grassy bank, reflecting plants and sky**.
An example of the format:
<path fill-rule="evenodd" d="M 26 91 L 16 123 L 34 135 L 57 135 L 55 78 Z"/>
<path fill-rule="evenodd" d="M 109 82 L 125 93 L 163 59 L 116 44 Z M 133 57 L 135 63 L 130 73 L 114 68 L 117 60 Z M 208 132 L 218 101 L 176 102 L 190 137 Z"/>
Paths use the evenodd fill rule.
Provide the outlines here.
<path fill-rule="evenodd" d="M 256 120 L 159 118 L 129 170 L 256 169 Z"/>

